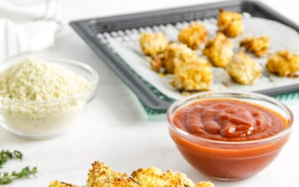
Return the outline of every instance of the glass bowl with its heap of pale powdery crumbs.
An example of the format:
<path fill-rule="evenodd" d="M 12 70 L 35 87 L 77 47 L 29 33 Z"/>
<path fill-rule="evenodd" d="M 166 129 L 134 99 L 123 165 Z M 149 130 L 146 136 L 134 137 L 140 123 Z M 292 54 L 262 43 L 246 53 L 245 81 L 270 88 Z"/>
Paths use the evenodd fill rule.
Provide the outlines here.
<path fill-rule="evenodd" d="M 93 100 L 97 84 L 97 72 L 73 60 L 25 58 L 0 65 L 0 123 L 25 138 L 62 134 Z"/>

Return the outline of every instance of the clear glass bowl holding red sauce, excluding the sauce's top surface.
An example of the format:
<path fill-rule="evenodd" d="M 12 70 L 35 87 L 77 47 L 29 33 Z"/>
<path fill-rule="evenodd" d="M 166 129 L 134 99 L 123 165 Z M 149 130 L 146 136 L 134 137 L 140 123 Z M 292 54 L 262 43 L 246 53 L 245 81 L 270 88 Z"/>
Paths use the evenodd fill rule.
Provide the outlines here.
<path fill-rule="evenodd" d="M 234 99 L 265 106 L 281 114 L 287 127 L 266 138 L 228 142 L 196 136 L 174 124 L 178 110 L 207 99 Z M 167 121 L 170 136 L 191 166 L 215 179 L 240 180 L 257 174 L 279 154 L 288 141 L 293 114 L 283 103 L 268 96 L 243 91 L 210 91 L 175 102 L 167 110 Z"/>

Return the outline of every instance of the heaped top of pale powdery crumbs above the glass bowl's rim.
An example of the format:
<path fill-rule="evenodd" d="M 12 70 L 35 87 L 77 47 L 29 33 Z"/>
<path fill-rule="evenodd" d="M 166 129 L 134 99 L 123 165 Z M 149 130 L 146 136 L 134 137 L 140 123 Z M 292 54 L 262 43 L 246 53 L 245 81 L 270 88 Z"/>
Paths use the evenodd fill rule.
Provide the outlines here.
<path fill-rule="evenodd" d="M 26 58 L 0 74 L 0 97 L 14 101 L 52 101 L 89 87 L 83 77 L 59 65 Z"/>

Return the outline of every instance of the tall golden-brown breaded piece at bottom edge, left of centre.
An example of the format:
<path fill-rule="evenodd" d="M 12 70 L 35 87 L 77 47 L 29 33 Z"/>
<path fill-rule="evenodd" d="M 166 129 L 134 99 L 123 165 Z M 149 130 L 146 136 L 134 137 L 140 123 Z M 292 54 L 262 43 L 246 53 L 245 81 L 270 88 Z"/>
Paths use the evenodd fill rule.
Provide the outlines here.
<path fill-rule="evenodd" d="M 140 184 L 125 173 L 115 172 L 103 162 L 95 161 L 89 176 L 86 187 L 140 187 Z"/>

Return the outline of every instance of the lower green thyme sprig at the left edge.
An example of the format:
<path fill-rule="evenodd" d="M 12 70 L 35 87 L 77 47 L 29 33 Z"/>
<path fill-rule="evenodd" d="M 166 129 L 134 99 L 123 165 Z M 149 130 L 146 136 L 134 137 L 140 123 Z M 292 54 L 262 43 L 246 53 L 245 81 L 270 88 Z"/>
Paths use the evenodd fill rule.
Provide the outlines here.
<path fill-rule="evenodd" d="M 9 184 L 12 183 L 15 179 L 28 178 L 30 175 L 36 177 L 35 176 L 36 173 L 37 173 L 37 168 L 33 167 L 32 169 L 30 169 L 29 166 L 23 168 L 19 172 L 13 171 L 12 173 L 8 173 L 8 172 L 0 173 L 0 184 Z"/>

